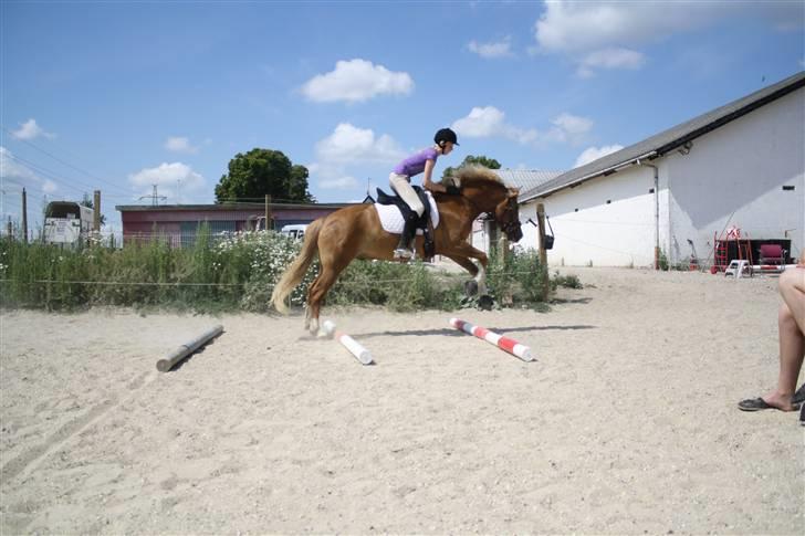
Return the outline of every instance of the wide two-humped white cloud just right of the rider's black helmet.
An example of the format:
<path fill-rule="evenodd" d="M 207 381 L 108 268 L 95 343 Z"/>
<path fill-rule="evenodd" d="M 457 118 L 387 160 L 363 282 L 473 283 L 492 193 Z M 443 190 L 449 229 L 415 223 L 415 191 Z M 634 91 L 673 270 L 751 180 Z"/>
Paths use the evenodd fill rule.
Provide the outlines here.
<path fill-rule="evenodd" d="M 452 128 L 469 138 L 505 138 L 521 145 L 544 146 L 548 143 L 579 143 L 593 127 L 586 117 L 561 114 L 545 132 L 522 128 L 506 122 L 505 114 L 494 106 L 473 107 L 470 113 L 452 124 Z"/>

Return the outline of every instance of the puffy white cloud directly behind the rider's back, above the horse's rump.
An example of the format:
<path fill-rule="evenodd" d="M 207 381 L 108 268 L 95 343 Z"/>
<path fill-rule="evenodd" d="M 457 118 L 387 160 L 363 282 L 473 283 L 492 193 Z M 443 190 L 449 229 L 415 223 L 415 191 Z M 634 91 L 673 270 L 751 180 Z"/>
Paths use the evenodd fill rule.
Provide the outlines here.
<path fill-rule="evenodd" d="M 369 128 L 358 128 L 341 123 L 333 134 L 320 140 L 315 147 L 316 160 L 307 166 L 311 177 L 322 188 L 348 188 L 358 181 L 347 169 L 354 165 L 395 164 L 405 153 L 390 136 L 376 136 Z M 390 169 L 390 168 L 389 168 Z"/>

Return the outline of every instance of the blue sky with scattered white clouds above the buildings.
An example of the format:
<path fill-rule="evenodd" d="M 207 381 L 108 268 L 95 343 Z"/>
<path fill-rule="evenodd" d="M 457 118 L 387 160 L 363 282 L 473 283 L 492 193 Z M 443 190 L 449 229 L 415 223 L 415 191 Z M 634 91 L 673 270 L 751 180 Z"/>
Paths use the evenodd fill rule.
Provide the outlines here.
<path fill-rule="evenodd" d="M 2 221 L 213 201 L 282 150 L 360 200 L 452 126 L 467 155 L 567 170 L 805 69 L 805 2 L 0 3 Z M 33 225 L 32 225 L 33 227 Z"/>

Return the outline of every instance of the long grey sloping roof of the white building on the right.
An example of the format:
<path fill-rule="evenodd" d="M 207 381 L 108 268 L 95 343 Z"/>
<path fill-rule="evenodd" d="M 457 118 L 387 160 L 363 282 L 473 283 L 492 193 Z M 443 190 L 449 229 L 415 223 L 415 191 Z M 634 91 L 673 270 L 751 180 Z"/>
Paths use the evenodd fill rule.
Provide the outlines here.
<path fill-rule="evenodd" d="M 749 114 L 777 98 L 805 86 L 805 72 L 799 72 L 776 84 L 756 91 L 743 98 L 702 114 L 668 130 L 644 139 L 635 145 L 606 155 L 589 164 L 571 169 L 558 177 L 543 182 L 520 196 L 521 202 L 546 196 L 564 188 L 582 183 L 602 175 L 615 172 L 617 168 L 638 159 L 654 159 L 683 146 L 731 120 Z"/>

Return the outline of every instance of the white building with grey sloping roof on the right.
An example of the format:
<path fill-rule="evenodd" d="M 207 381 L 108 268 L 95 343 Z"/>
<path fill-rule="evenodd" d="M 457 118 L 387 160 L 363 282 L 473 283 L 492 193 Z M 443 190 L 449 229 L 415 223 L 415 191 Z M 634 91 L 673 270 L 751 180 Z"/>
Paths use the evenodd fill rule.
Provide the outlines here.
<path fill-rule="evenodd" d="M 805 242 L 805 72 L 572 169 L 521 195 L 521 220 L 543 203 L 550 264 L 712 263 L 714 235 Z M 527 248 L 534 227 L 523 224 Z"/>

